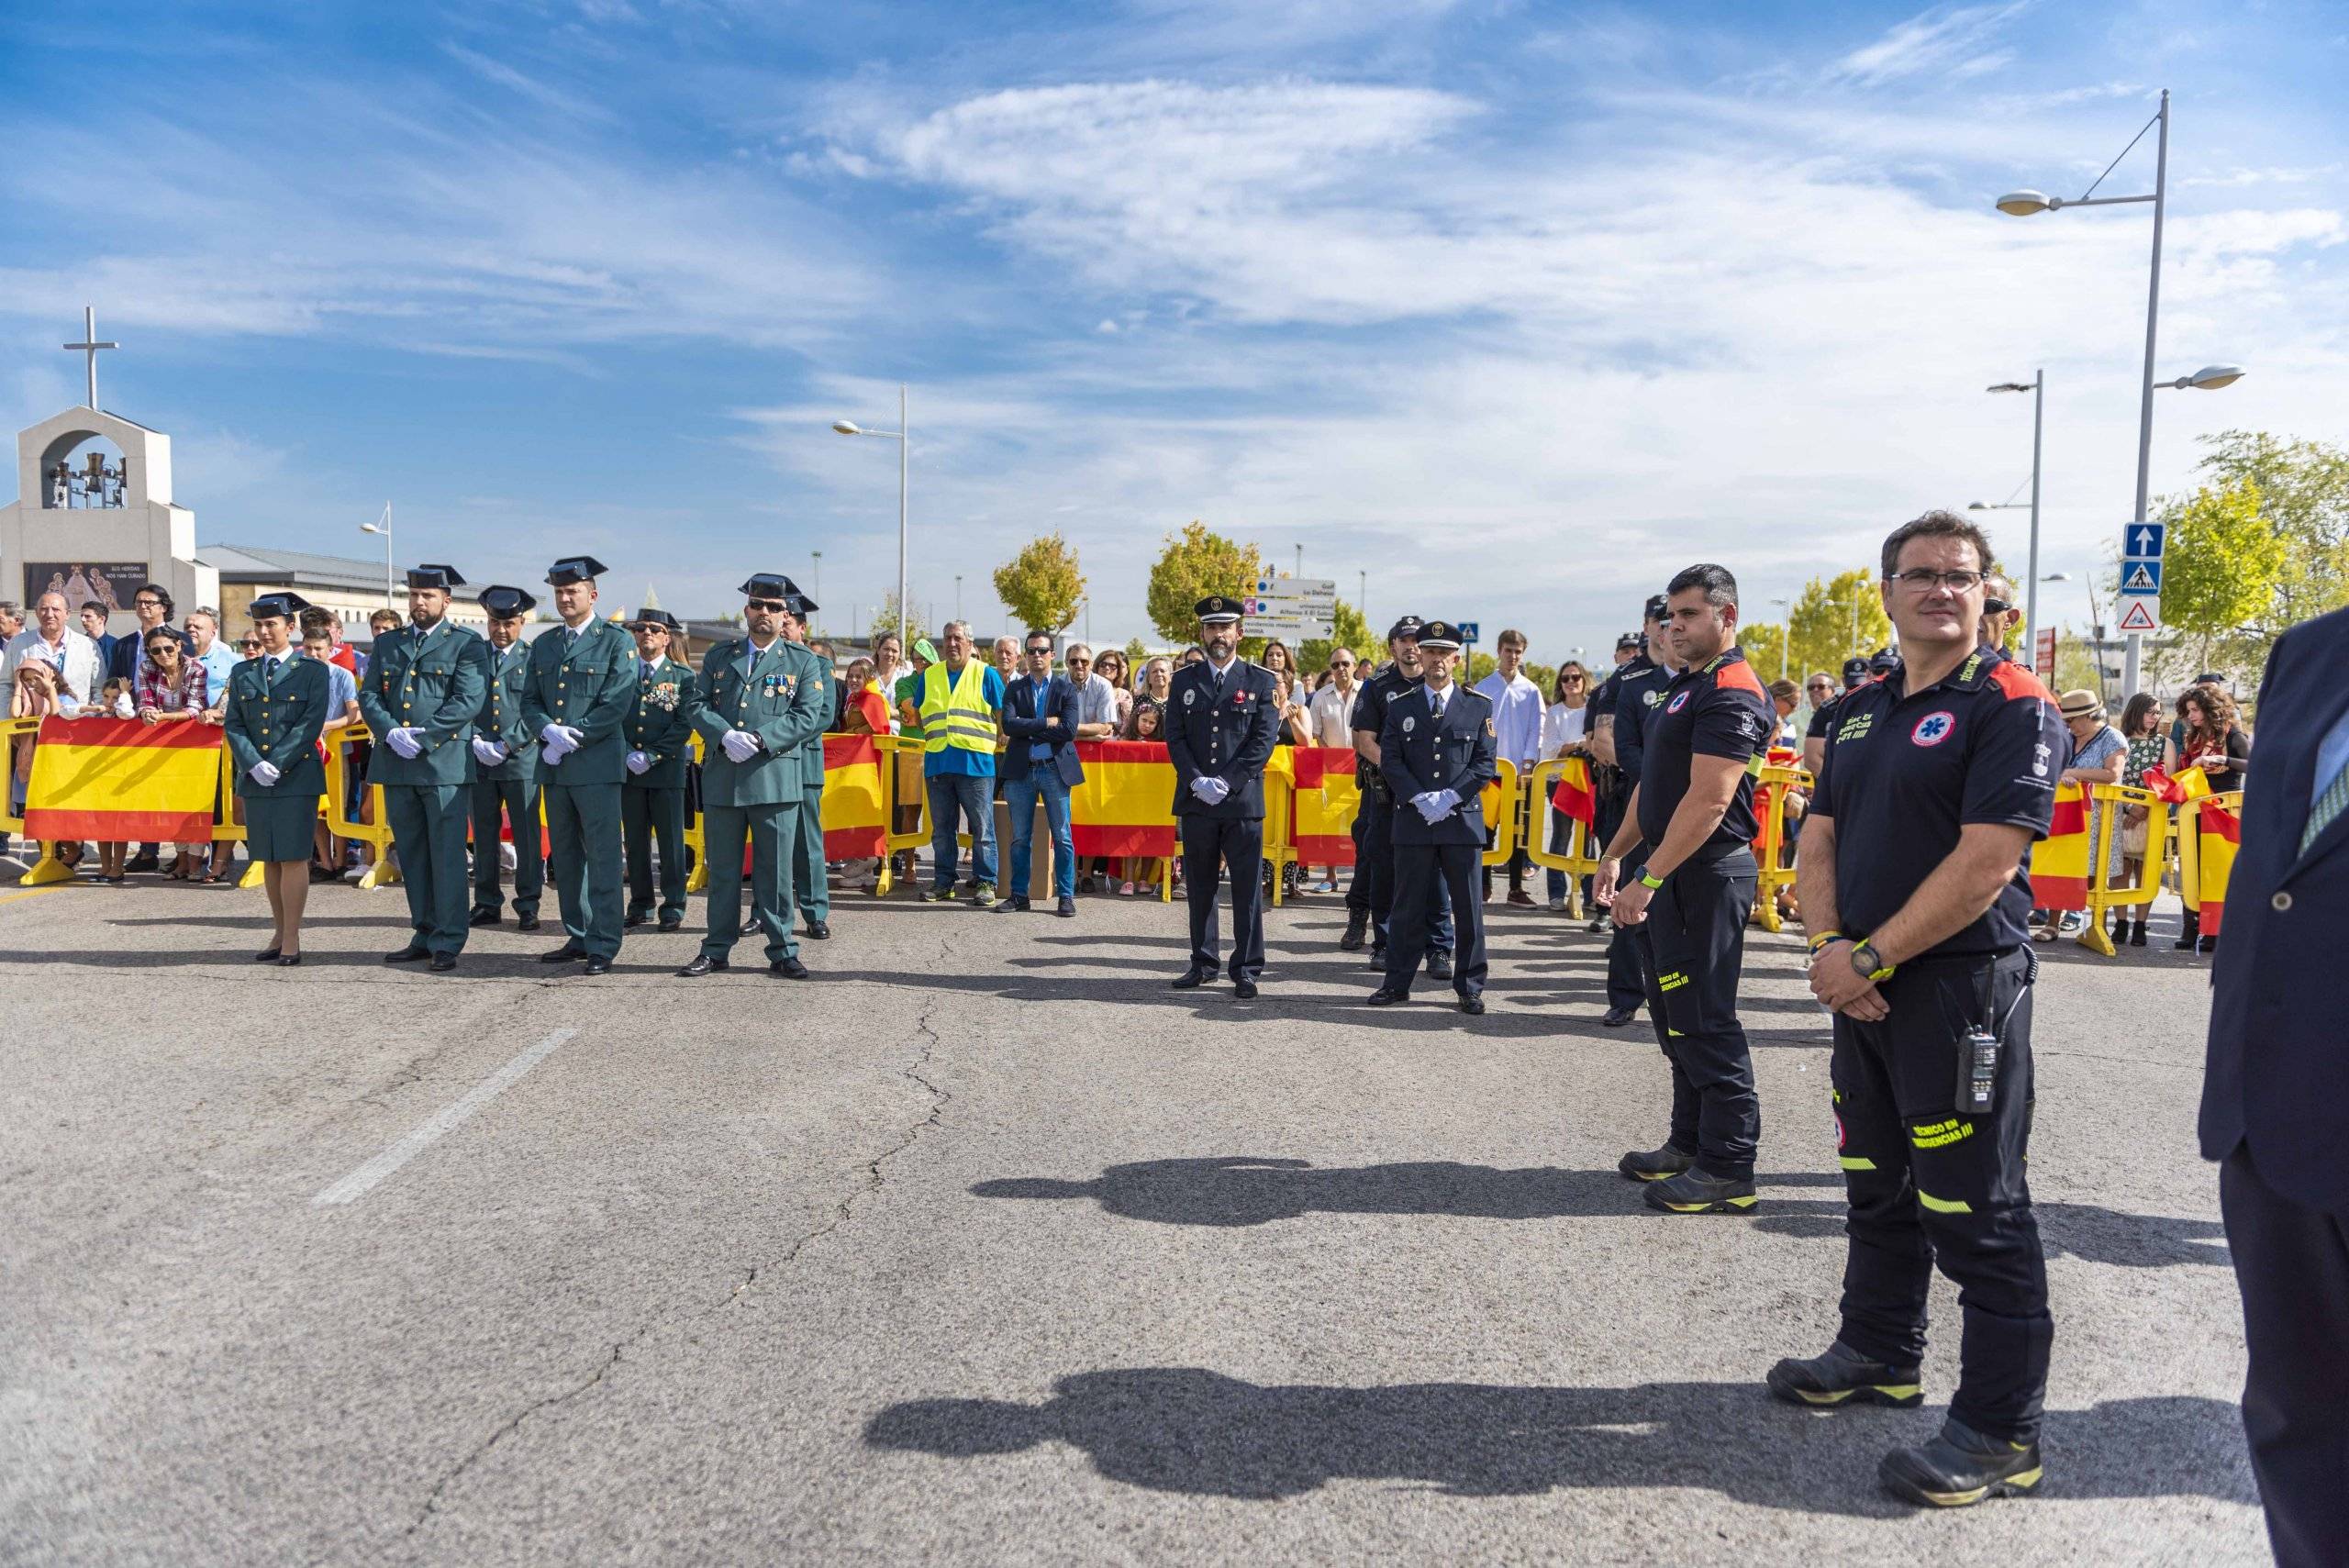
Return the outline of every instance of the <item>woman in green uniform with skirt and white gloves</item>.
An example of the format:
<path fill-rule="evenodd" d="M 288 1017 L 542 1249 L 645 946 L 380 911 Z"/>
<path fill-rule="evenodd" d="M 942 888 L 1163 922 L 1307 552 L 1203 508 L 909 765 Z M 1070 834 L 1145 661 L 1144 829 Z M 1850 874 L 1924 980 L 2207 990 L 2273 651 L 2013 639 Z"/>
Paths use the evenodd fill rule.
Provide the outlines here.
<path fill-rule="evenodd" d="M 254 962 L 301 962 L 301 911 L 310 897 L 310 833 L 327 765 L 317 737 L 327 728 L 327 667 L 294 648 L 301 594 L 263 594 L 251 603 L 261 655 L 228 671 L 228 753 L 244 803 L 244 854 L 261 864 L 270 892 L 270 946 Z"/>

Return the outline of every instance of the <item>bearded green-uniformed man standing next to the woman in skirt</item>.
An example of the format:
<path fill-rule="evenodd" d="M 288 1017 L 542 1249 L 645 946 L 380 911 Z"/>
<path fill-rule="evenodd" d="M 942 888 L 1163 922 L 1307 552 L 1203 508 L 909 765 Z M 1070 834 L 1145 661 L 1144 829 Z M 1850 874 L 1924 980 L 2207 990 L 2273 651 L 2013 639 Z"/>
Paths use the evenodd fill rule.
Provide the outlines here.
<path fill-rule="evenodd" d="M 383 962 L 430 960 L 456 969 L 465 951 L 465 829 L 472 822 L 472 739 L 489 690 L 489 643 L 449 620 L 453 566 L 409 568 L 409 624 L 366 655 L 359 718 L 381 737 L 366 782 L 383 786 L 383 815 L 409 892 L 409 941 Z"/>

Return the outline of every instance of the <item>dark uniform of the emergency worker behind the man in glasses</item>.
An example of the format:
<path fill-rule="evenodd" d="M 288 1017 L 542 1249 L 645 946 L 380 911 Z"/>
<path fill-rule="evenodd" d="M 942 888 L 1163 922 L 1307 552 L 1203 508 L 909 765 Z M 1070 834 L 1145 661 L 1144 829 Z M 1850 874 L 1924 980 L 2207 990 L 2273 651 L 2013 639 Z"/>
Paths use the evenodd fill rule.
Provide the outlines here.
<path fill-rule="evenodd" d="M 1712 836 L 1663 878 L 1647 920 L 1633 927 L 1647 965 L 1647 1007 L 1672 1063 L 1670 1143 L 1724 1181 L 1752 1181 L 1762 1138 L 1752 1052 L 1738 1023 L 1738 969 L 1757 880 L 1752 763 L 1769 746 L 1776 721 L 1759 676 L 1729 648 L 1663 690 L 1640 751 L 1644 852 L 1663 843 L 1689 793 L 1694 758 L 1719 756 L 1745 768 Z M 1621 728 L 1616 718 L 1618 735 Z M 1630 878 L 1635 869 L 1623 864 Z M 1750 1204 L 1745 1197 L 1738 1207 Z"/>

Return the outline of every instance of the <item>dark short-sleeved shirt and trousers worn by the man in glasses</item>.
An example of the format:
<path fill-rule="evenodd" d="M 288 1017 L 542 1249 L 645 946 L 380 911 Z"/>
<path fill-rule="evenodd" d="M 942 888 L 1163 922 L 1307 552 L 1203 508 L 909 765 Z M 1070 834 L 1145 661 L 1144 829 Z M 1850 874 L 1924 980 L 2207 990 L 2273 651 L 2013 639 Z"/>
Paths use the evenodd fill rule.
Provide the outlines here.
<path fill-rule="evenodd" d="M 1983 648 L 1933 685 L 1905 671 L 1844 692 L 1811 815 L 1835 824 L 1842 934 L 1863 941 L 1957 850 L 1966 824 L 2044 838 L 2069 737 L 2055 699 Z M 2032 1117 L 2030 857 L 1964 930 L 1877 984 L 1891 1014 L 1835 1019 L 1837 1157 L 1851 1197 L 1839 1340 L 1914 1368 L 1933 1263 L 1964 1312 L 1950 1418 L 2037 1441 L 2046 1390 L 2046 1263 L 2025 1183 Z M 1957 1110 L 1968 1028 L 2001 1038 L 1987 1115 Z"/>

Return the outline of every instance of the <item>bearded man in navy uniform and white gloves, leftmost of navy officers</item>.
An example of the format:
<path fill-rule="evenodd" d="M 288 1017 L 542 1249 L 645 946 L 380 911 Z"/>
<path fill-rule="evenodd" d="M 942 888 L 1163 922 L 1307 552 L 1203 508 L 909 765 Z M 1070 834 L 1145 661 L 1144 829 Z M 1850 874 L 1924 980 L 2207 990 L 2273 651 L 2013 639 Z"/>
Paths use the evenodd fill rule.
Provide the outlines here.
<path fill-rule="evenodd" d="M 1280 699 L 1273 671 L 1238 655 L 1238 599 L 1198 601 L 1198 641 L 1207 657 L 1177 669 L 1167 688 L 1167 758 L 1191 901 L 1191 967 L 1174 988 L 1214 976 L 1214 878 L 1229 869 L 1231 995 L 1245 1002 L 1264 972 L 1264 763 L 1280 730 Z"/>

